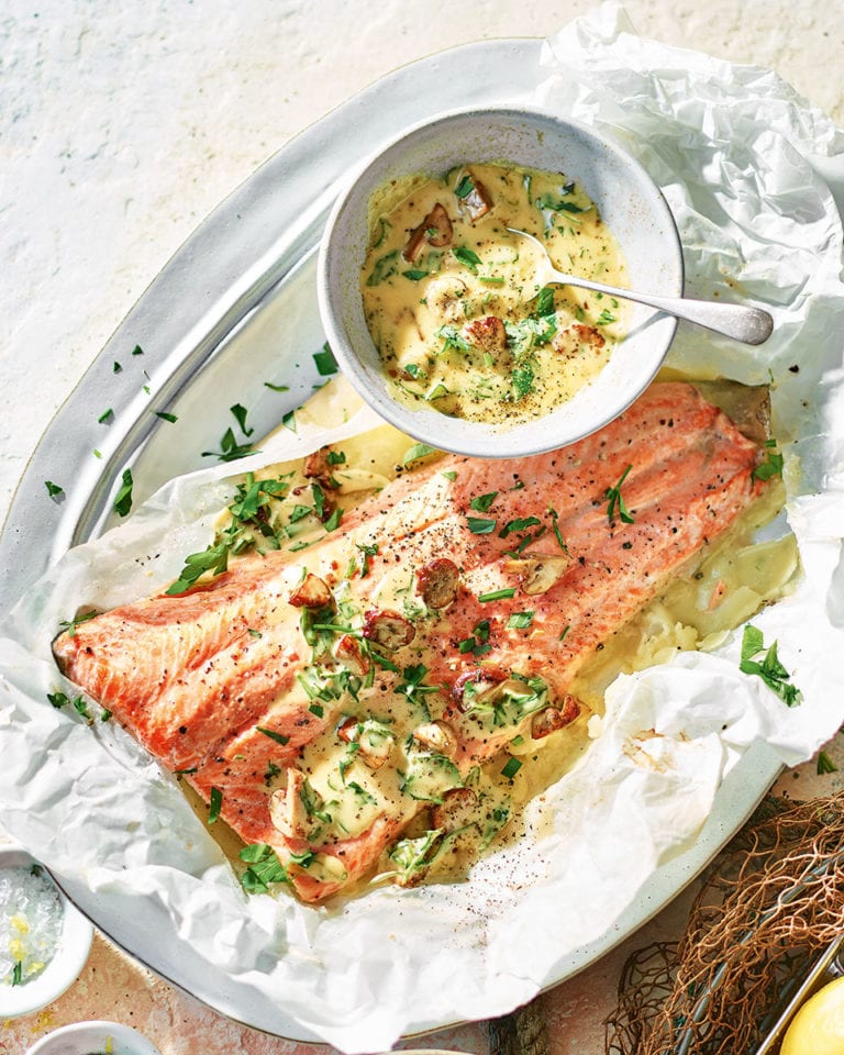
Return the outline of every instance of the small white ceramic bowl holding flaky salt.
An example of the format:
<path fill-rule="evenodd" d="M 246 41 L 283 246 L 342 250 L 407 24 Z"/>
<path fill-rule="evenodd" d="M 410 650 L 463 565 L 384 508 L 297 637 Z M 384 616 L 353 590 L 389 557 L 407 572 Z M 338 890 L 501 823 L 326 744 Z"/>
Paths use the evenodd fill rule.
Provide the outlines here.
<path fill-rule="evenodd" d="M 37 862 L 19 846 L 0 845 L 0 868 L 31 868 Z M 44 873 L 49 877 L 49 873 Z M 22 986 L 0 987 L 0 1019 L 30 1014 L 56 1000 L 79 977 L 93 941 L 93 926 L 56 888 L 64 910 L 56 954 L 40 975 Z"/>

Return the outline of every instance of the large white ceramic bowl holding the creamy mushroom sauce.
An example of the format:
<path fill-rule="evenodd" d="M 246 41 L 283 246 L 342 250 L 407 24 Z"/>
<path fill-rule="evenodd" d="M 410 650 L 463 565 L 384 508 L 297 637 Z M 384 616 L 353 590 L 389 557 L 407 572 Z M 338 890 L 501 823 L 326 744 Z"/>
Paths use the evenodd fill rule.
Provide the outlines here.
<path fill-rule="evenodd" d="M 364 318 L 360 268 L 370 232 L 368 203 L 390 180 L 442 176 L 465 163 L 510 162 L 576 180 L 621 245 L 631 288 L 682 293 L 682 251 L 665 199 L 614 141 L 574 121 L 526 108 L 451 111 L 415 125 L 367 160 L 341 193 L 320 248 L 318 296 L 342 370 L 382 418 L 456 454 L 515 457 L 564 446 L 612 421 L 649 385 L 674 337 L 675 319 L 631 306 L 626 338 L 598 378 L 553 413 L 510 427 L 410 409 L 389 393 Z"/>

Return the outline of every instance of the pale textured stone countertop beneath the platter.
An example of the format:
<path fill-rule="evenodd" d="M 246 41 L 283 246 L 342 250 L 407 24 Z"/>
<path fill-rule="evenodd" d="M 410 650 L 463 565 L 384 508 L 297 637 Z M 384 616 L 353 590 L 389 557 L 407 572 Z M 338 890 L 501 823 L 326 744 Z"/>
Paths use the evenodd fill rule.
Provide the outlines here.
<path fill-rule="evenodd" d="M 7 0 L 0 15 L 0 518 L 41 434 L 162 266 L 296 132 L 382 74 L 479 38 L 546 36 L 588 0 Z M 636 30 L 774 68 L 844 124 L 844 0 L 629 0 Z M 844 765 L 837 748 L 833 757 Z M 799 781 L 799 782 L 798 782 Z M 836 789 L 813 764 L 780 789 Z M 801 795 L 800 797 L 803 797 Z M 624 956 L 676 932 L 684 899 L 542 998 L 553 1055 L 598 1055 Z M 221 1019 L 98 935 L 79 981 L 0 1020 L 19 1055 L 57 1025 L 109 1018 L 163 1055 L 320 1051 Z M 485 1053 L 484 1026 L 418 1042 Z M 322 1050 L 324 1051 L 324 1050 Z"/>

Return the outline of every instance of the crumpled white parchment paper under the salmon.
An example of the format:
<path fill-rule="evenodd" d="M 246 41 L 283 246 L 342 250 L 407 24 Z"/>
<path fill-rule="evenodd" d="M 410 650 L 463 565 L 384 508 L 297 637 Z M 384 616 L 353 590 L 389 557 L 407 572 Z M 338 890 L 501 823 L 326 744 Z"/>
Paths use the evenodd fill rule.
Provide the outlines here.
<path fill-rule="evenodd" d="M 464 885 L 390 887 L 314 909 L 246 898 L 170 777 L 113 723 L 89 728 L 45 699 L 73 691 L 49 653 L 59 621 L 80 602 L 114 606 L 174 578 L 184 555 L 208 544 L 231 466 L 173 481 L 69 553 L 0 626 L 0 809 L 10 833 L 100 904 L 142 915 L 146 906 L 163 928 L 151 941 L 178 935 L 195 973 L 208 965 L 271 1001 L 279 1032 L 347 1052 L 530 999 L 578 949 L 600 944 L 655 870 L 693 843 L 751 748 L 766 744 L 768 760 L 799 763 L 844 717 L 844 287 L 833 197 L 844 197 L 844 135 L 773 73 L 641 40 L 611 4 L 551 38 L 542 66 L 536 101 L 611 132 L 662 187 L 687 291 L 775 316 L 759 348 L 681 325 L 669 365 L 771 382 L 803 574 L 754 624 L 766 643 L 778 641 L 800 706 L 738 671 L 741 631 L 715 655 L 622 677 L 586 763 L 531 808 L 541 835 L 484 859 Z M 304 454 L 371 422 L 362 410 L 333 432 L 285 434 L 234 468 Z"/>

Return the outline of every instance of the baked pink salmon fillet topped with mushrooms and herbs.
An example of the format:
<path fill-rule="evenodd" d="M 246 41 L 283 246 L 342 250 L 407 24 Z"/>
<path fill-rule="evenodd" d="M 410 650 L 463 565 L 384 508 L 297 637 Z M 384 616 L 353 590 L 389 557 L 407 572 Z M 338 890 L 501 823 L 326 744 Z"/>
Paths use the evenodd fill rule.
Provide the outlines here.
<path fill-rule="evenodd" d="M 573 678 L 754 500 L 759 460 L 696 388 L 656 384 L 579 443 L 423 466 L 307 548 L 99 614 L 54 653 L 247 859 L 320 901 L 411 824 L 425 846 L 500 826 L 481 767 L 512 779 L 511 745 L 553 749 Z"/>

